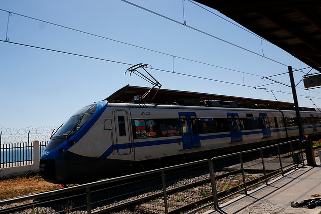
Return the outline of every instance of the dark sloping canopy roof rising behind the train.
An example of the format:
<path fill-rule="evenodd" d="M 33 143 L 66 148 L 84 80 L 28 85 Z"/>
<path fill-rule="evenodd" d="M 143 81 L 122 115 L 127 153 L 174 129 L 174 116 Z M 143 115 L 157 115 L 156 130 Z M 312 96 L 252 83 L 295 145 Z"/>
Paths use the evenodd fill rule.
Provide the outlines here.
<path fill-rule="evenodd" d="M 130 86 L 126 85 L 123 88 L 117 90 L 112 95 L 107 97 L 104 100 L 108 102 L 125 102 L 132 103 L 134 96 L 142 96 L 150 88 L 140 87 L 140 86 Z M 156 93 L 157 89 L 151 90 L 151 97 Z M 294 103 L 280 102 L 280 101 L 271 101 L 271 100 L 261 100 L 261 99 L 252 99 L 244 97 L 234 97 L 218 94 L 207 94 L 199 92 L 188 92 L 188 91 L 177 91 L 169 89 L 159 89 L 154 100 L 147 101 L 149 104 L 179 104 L 180 106 L 200 106 L 201 101 L 213 100 L 219 101 L 221 104 L 227 102 L 226 104 L 231 104 L 230 107 L 241 107 L 241 108 L 261 108 L 261 109 L 284 109 L 284 110 L 294 110 Z M 232 105 L 237 103 L 237 106 Z M 219 107 L 219 106 L 217 106 Z M 220 107 L 229 107 L 227 105 L 221 105 Z M 304 111 L 315 111 L 311 108 L 301 108 Z"/>

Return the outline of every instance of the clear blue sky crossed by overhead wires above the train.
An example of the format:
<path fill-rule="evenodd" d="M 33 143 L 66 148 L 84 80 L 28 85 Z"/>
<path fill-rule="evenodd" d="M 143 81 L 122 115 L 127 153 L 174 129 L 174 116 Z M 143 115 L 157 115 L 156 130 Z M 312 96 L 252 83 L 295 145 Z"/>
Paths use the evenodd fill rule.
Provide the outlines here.
<path fill-rule="evenodd" d="M 184 22 L 182 0 L 133 0 L 173 20 Z M 289 87 L 272 84 L 266 90 L 254 86 L 272 83 L 261 76 L 307 67 L 299 60 L 262 41 L 235 25 L 186 0 L 186 24 L 222 40 L 265 57 L 250 53 L 187 26 L 172 22 L 120 0 L 107 1 L 2 1 L 0 9 L 57 25 L 152 49 L 165 54 L 136 48 L 119 42 L 94 37 L 16 14 L 0 11 L 0 40 L 55 49 L 128 64 L 144 63 L 152 68 L 176 73 L 148 70 L 164 89 L 194 91 L 228 96 L 293 102 Z M 224 17 L 219 12 L 211 12 Z M 225 17 L 226 18 L 226 17 Z M 228 18 L 227 18 L 228 19 Z M 100 101 L 129 84 L 151 87 L 135 75 L 124 75 L 130 66 L 120 63 L 62 54 L 12 43 L 0 42 L 1 99 L 0 127 L 59 126 L 83 106 Z M 263 47 L 263 50 L 262 50 Z M 188 58 L 240 72 L 221 69 L 178 57 Z M 275 63 L 271 58 L 279 63 Z M 309 70 L 304 70 L 308 72 Z M 243 75 L 244 72 L 245 74 Z M 313 72 L 313 71 L 312 71 Z M 314 71 L 315 72 L 315 71 Z M 231 82 L 234 84 L 192 78 L 177 73 Z M 255 74 L 259 76 L 249 75 Z M 294 72 L 298 83 L 303 73 Z M 287 74 L 273 78 L 289 84 Z M 306 91 L 297 86 L 300 106 L 315 107 L 320 103 L 320 89 Z M 302 95 L 302 96 L 300 96 Z"/>

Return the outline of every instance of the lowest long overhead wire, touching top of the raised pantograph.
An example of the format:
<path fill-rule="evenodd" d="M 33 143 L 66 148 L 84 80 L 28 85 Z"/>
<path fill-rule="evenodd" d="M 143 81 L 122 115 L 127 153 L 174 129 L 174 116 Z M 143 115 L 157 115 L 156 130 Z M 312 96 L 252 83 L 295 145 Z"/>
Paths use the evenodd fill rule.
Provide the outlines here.
<path fill-rule="evenodd" d="M 134 64 L 120 62 L 120 61 L 108 60 L 108 59 L 103 59 L 103 58 L 98 58 L 98 57 L 91 57 L 91 56 L 82 55 L 82 54 L 75 54 L 75 53 L 71 53 L 71 52 L 59 51 L 59 50 L 55 50 L 55 49 L 43 48 L 43 47 L 39 47 L 39 46 L 27 45 L 27 44 L 22 44 L 22 43 L 15 43 L 15 42 L 10 42 L 10 41 L 5 41 L 5 40 L 0 40 L 0 42 L 26 46 L 26 47 L 30 47 L 30 48 L 37 48 L 37 49 L 42 49 L 42 50 L 47 50 L 47 51 L 53 51 L 53 52 L 57 52 L 57 53 L 69 54 L 69 55 L 73 55 L 73 56 L 85 57 L 85 58 L 90 58 L 90 59 L 95 59 L 95 60 L 102 60 L 102 61 L 107 61 L 107 62 L 112 62 L 112 63 L 123 64 L 123 65 L 129 65 L 129 66 L 133 66 L 134 65 Z M 164 70 L 164 69 L 156 69 L 156 68 L 148 68 L 148 67 L 147 67 L 147 69 L 152 69 L 152 70 L 155 70 L 155 71 L 162 71 L 162 72 L 167 72 L 167 73 L 172 73 L 172 74 L 179 74 L 179 75 L 183 75 L 183 76 L 194 77 L 194 78 L 198 78 L 198 79 L 211 80 L 211 81 L 216 81 L 216 82 L 220 82 L 220 83 L 227 83 L 227 84 L 232 84 L 232 85 L 237 85 L 237 86 L 243 86 L 243 87 L 257 89 L 254 86 L 249 86 L 249 85 L 245 85 L 245 84 L 232 83 L 232 82 L 228 82 L 228 81 L 216 80 L 216 79 L 212 79 L 212 78 L 200 77 L 200 76 L 196 76 L 196 75 L 179 73 L 179 72 L 173 72 L 173 71 L 168 71 L 168 70 Z M 261 89 L 261 88 L 259 88 L 259 89 Z M 284 93 L 284 94 L 291 94 L 289 92 L 276 91 L 276 90 L 271 90 L 271 89 L 267 89 L 267 88 L 262 88 L 262 89 L 273 91 L 273 92 Z M 299 95 L 299 94 L 297 94 L 297 96 L 306 97 L 305 95 Z M 321 98 L 318 98 L 318 97 L 311 97 L 311 98 L 321 99 Z"/>

